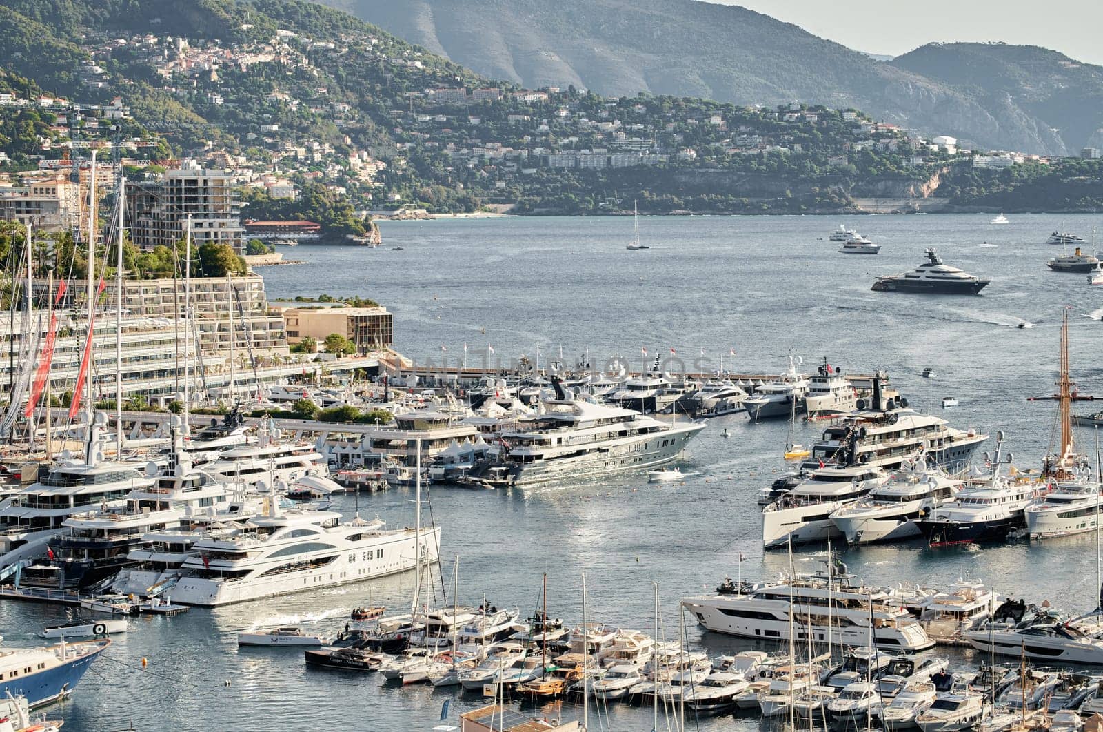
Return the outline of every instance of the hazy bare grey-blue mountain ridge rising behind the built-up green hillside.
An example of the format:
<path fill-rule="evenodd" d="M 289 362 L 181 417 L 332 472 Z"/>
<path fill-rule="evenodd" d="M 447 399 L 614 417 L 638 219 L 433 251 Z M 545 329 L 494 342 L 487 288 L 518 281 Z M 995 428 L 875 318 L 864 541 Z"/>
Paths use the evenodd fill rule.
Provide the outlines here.
<path fill-rule="evenodd" d="M 529 88 L 575 85 L 604 95 L 639 92 L 739 105 L 790 101 L 864 109 L 887 122 L 953 134 L 989 149 L 1077 152 L 1103 126 L 1092 86 L 1100 71 L 1063 73 L 1060 54 L 1024 64 L 1026 88 L 1069 78 L 1058 109 L 993 93 L 952 61 L 923 69 L 939 50 L 885 63 L 737 6 L 697 0 L 321 0 L 446 55 L 480 74 Z M 920 63 L 931 56 L 930 64 Z M 1063 58 L 1063 57 L 1061 57 Z M 1068 69 L 1069 72 L 1074 69 Z M 1057 117 L 1057 114 L 1061 117 Z M 1072 123 L 1071 120 L 1078 120 Z M 1079 120 L 1084 120 L 1080 123 Z M 1057 128 L 1057 129 L 1054 129 Z"/>

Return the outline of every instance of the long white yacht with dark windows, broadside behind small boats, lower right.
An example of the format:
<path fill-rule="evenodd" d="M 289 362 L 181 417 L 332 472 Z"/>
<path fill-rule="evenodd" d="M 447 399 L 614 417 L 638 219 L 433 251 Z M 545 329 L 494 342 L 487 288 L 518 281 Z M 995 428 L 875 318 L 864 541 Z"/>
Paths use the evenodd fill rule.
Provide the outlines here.
<path fill-rule="evenodd" d="M 835 569 L 835 568 L 832 568 Z M 924 650 L 934 645 L 919 622 L 891 601 L 890 590 L 854 583 L 838 572 L 779 577 L 736 594 L 683 598 L 682 604 L 709 631 L 747 638 L 788 640 L 791 620 L 803 642 L 891 650 Z"/>

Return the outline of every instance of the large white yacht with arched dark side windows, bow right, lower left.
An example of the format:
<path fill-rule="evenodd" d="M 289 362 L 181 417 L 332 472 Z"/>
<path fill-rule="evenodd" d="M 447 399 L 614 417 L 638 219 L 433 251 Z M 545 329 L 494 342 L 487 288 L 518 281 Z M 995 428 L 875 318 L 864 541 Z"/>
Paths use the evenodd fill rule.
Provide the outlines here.
<path fill-rule="evenodd" d="M 319 590 L 435 562 L 440 528 L 384 529 L 383 521 L 341 523 L 335 512 L 283 509 L 268 497 L 264 516 L 228 537 L 195 542 L 184 561 L 188 574 L 172 591 L 174 602 L 225 605 L 258 598 Z"/>

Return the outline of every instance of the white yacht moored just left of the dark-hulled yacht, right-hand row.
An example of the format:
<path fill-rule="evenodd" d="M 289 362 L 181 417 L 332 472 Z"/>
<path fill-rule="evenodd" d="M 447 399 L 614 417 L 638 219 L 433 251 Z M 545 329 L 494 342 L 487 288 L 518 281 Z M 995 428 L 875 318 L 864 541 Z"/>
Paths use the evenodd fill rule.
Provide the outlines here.
<path fill-rule="evenodd" d="M 962 481 L 918 460 L 901 466 L 866 497 L 833 512 L 831 520 L 850 545 L 912 539 L 921 536 L 915 519 L 961 485 Z"/>

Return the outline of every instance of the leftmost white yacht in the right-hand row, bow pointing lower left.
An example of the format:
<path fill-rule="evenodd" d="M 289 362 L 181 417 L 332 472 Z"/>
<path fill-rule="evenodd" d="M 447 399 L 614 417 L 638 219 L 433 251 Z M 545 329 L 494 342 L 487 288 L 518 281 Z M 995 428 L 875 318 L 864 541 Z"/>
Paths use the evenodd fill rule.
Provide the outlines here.
<path fill-rule="evenodd" d="M 853 504 L 879 485 L 888 474 L 869 465 L 824 465 L 789 493 L 762 509 L 762 546 L 777 549 L 792 543 L 827 541 L 839 536 L 832 513 Z"/>

